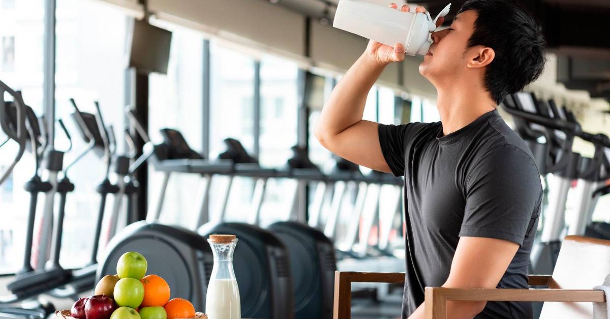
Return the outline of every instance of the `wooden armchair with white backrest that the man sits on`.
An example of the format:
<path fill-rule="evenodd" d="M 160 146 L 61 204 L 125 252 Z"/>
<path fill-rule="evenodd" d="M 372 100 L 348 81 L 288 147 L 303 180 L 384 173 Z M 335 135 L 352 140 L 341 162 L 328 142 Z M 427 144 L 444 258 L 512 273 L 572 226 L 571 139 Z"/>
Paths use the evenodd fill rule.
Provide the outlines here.
<path fill-rule="evenodd" d="M 553 276 L 529 276 L 529 285 L 545 289 L 483 289 L 426 287 L 426 319 L 447 318 L 445 303 L 463 301 L 556 301 L 545 303 L 541 319 L 592 318 L 592 303 L 605 302 L 604 293 L 592 290 L 610 274 L 610 240 L 568 236 L 561 246 Z M 351 318 L 351 283 L 404 284 L 404 273 L 335 274 L 334 319 Z M 398 314 L 397 314 L 398 315 Z"/>

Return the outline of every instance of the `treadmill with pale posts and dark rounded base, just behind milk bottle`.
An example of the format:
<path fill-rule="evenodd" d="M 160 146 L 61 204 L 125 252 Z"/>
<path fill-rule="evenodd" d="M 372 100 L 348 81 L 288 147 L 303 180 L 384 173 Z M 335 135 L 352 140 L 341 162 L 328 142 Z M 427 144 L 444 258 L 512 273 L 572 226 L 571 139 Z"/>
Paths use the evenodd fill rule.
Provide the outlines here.
<path fill-rule="evenodd" d="M 217 218 L 199 227 L 198 233 L 206 238 L 214 233 L 226 233 L 239 239 L 233 255 L 233 267 L 241 296 L 242 317 L 293 319 L 295 301 L 289 250 L 280 237 L 256 226 L 267 180 L 281 174 L 274 169 L 260 167 L 258 161 L 236 139 L 224 139 L 224 144 L 226 151 L 218 157 L 233 163 L 224 204 Z M 249 223 L 223 221 L 232 180 L 236 176 L 257 180 L 248 214 Z"/>

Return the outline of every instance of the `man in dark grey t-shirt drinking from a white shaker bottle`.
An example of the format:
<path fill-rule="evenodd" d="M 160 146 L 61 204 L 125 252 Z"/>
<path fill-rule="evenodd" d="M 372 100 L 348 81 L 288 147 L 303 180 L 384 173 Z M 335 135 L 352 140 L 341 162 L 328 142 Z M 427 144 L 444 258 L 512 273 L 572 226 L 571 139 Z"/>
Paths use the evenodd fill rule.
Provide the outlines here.
<path fill-rule="evenodd" d="M 371 41 L 333 90 L 315 130 L 337 155 L 404 176 L 403 318 L 423 318 L 426 286 L 527 288 L 542 201 L 531 152 L 496 110 L 542 73 L 540 28 L 511 2 L 472 0 L 432 39 L 419 71 L 437 89 L 440 122 L 362 120 L 383 68 L 404 59 L 402 45 Z M 528 303 L 451 301 L 447 314 L 531 318 L 532 310 Z"/>

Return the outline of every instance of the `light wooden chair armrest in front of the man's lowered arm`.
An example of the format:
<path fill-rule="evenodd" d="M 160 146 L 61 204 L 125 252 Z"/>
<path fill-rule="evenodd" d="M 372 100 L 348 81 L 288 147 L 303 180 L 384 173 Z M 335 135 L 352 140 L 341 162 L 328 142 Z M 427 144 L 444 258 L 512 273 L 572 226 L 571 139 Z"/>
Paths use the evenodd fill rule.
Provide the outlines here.
<path fill-rule="evenodd" d="M 603 303 L 606 298 L 601 290 L 426 287 L 425 318 L 446 319 L 448 300 Z"/>

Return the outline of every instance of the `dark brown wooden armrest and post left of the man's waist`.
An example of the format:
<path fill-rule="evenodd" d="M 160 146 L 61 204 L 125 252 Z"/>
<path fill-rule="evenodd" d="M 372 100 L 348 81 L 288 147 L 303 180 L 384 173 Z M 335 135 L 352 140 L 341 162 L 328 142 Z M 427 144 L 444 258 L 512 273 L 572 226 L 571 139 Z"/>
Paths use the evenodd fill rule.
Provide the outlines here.
<path fill-rule="evenodd" d="M 404 284 L 404 273 L 357 273 L 353 271 L 335 272 L 334 319 L 351 318 L 351 283 L 387 282 Z"/>

